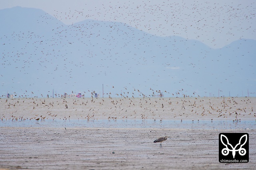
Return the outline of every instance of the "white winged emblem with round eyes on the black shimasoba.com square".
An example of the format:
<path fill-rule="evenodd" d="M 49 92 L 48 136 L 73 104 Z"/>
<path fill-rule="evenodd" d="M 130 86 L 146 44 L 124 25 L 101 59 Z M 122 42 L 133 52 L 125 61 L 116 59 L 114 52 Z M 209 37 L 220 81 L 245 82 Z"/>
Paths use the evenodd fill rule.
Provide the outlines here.
<path fill-rule="evenodd" d="M 241 144 L 242 138 L 245 138 L 245 141 L 244 141 L 243 144 Z M 226 141 L 224 139 L 226 139 Z M 247 135 L 246 134 L 241 136 L 241 138 L 239 140 L 239 143 L 236 144 L 235 147 L 233 147 L 232 144 L 229 143 L 228 138 L 224 134 L 220 135 L 220 140 L 221 140 L 222 144 L 224 146 L 226 146 L 226 148 L 223 148 L 222 151 L 221 151 L 222 155 L 226 156 L 226 155 L 229 154 L 229 152 L 232 152 L 233 158 L 235 158 L 236 151 L 238 151 L 238 153 L 241 156 L 244 156 L 246 154 L 246 150 L 244 148 L 242 148 L 242 146 L 244 146 L 244 144 L 246 144 L 246 142 L 247 142 Z M 230 149 L 230 148 L 232 148 L 232 149 Z"/>

